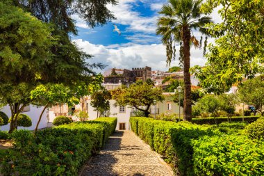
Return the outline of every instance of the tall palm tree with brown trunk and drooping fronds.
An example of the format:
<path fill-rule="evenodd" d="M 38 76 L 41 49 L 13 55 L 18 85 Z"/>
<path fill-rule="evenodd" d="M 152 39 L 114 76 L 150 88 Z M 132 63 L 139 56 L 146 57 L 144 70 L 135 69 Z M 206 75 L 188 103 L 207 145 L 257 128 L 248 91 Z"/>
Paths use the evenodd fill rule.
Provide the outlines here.
<path fill-rule="evenodd" d="M 200 7 L 202 0 L 168 0 L 169 2 L 160 10 L 162 17 L 158 18 L 158 29 L 156 33 L 162 35 L 163 45 L 167 51 L 167 65 L 172 58 L 175 59 L 175 45 L 180 42 L 183 46 L 182 60 L 184 72 L 184 102 L 183 113 L 185 120 L 192 120 L 191 83 L 190 83 L 190 45 L 199 47 L 199 41 L 195 38 L 192 30 L 209 35 L 205 24 L 211 21 L 211 17 L 204 16 Z M 181 56 L 180 54 L 180 56 Z"/>

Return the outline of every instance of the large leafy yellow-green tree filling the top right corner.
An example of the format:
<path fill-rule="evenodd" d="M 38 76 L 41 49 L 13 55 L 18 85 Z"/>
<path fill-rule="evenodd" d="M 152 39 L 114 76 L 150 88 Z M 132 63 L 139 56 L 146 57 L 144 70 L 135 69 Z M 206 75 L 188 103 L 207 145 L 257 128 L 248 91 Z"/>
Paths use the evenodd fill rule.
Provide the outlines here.
<path fill-rule="evenodd" d="M 206 67 L 192 71 L 203 88 L 220 94 L 264 72 L 264 1 L 208 0 L 201 10 L 211 13 L 217 7 L 222 22 L 207 26 L 217 39 L 208 46 Z"/>

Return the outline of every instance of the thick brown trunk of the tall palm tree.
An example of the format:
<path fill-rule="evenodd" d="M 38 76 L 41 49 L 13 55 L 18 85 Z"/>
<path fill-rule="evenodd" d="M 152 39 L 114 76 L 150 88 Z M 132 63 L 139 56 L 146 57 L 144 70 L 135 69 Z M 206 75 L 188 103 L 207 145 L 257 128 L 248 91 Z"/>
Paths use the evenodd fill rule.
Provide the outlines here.
<path fill-rule="evenodd" d="M 183 26 L 183 73 L 184 73 L 184 101 L 183 118 L 192 120 L 192 97 L 190 83 L 190 29 Z"/>

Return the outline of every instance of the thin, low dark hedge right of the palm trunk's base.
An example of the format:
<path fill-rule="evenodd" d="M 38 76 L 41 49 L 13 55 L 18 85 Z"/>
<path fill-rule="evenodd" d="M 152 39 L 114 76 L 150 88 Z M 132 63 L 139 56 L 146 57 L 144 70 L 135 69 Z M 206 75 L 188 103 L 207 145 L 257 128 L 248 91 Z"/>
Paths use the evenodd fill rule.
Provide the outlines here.
<path fill-rule="evenodd" d="M 255 122 L 259 116 L 247 116 L 244 117 L 244 122 Z M 218 117 L 218 118 L 192 118 L 192 122 L 198 125 L 215 125 L 215 121 L 217 124 L 220 124 L 222 122 L 228 122 L 229 118 L 227 117 Z M 232 117 L 231 122 L 242 122 L 243 118 L 242 117 Z"/>

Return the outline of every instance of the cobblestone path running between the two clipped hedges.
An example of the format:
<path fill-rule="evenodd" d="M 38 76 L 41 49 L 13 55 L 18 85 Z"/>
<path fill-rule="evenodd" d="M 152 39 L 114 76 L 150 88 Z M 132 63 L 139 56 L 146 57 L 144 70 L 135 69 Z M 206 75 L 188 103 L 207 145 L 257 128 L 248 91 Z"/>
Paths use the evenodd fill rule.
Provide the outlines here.
<path fill-rule="evenodd" d="M 172 170 L 132 131 L 116 131 L 100 154 L 93 157 L 81 176 L 171 176 Z"/>

